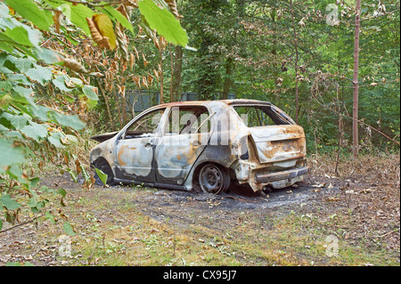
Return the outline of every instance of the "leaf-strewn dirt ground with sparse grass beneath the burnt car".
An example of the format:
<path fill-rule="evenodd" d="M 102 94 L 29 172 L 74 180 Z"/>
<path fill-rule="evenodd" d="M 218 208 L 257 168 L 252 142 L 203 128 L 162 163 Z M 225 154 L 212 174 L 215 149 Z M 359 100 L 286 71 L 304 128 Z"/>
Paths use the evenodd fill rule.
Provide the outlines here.
<path fill-rule="evenodd" d="M 88 191 L 73 183 L 69 174 L 57 172 L 46 174 L 41 184 L 51 188 L 62 187 L 68 192 L 67 203 L 70 205 L 61 207 L 59 214 L 63 210 L 60 215 L 66 215 L 66 219 L 74 224 L 74 230 L 81 238 L 85 237 L 88 244 L 102 236 L 104 247 L 106 233 L 101 231 L 103 226 L 114 223 L 121 228 L 130 225 L 132 227 L 134 223 L 138 224 L 138 215 L 143 215 L 151 222 L 163 224 L 163 227 L 152 227 L 147 219 L 145 223 L 150 226 L 149 231 L 143 231 L 144 229 L 140 228 L 141 224 L 137 225 L 135 237 L 129 237 L 130 243 L 135 242 L 135 238 L 146 239 L 151 233 L 176 231 L 187 236 L 185 238 L 189 238 L 191 243 L 209 243 L 214 248 L 218 248 L 218 243 L 225 243 L 225 247 L 231 249 L 225 257 L 233 256 L 235 265 L 399 265 L 399 156 L 393 158 L 389 164 L 381 162 L 381 166 L 378 166 L 377 163 L 376 160 L 370 160 L 369 163 L 362 161 L 358 165 L 342 164 L 343 174 L 336 176 L 324 166 L 314 166 L 312 161 L 311 173 L 307 174 L 303 183 L 274 190 L 263 196 L 239 187 L 221 195 L 201 191 L 145 189 L 128 185 L 109 188 L 94 185 Z M 324 165 L 332 167 L 330 163 Z M 360 169 L 350 172 L 348 166 L 359 166 Z M 56 237 L 63 232 L 60 225 L 58 229 L 56 225 L 49 222 L 37 225 L 27 223 L 2 233 L 0 264 L 28 262 L 35 265 L 110 265 L 102 263 L 101 256 L 97 262 L 93 260 L 94 248 L 89 257 L 82 257 L 76 253 L 77 261 L 74 257 L 60 257 L 60 243 Z M 89 227 L 96 229 L 88 231 Z M 4 225 L 4 229 L 6 228 Z M 143 237 L 136 237 L 141 233 Z M 272 240 L 286 235 L 289 240 L 283 240 L 282 244 L 277 245 L 277 242 Z M 327 256 L 320 256 L 326 245 L 322 245 L 316 236 L 322 239 L 327 235 L 334 235 L 340 239 L 341 246 L 347 247 L 342 253 L 348 252 L 348 255 L 337 258 L 336 261 L 328 259 Z M 297 236 L 297 239 L 290 241 L 290 236 Z M 119 243 L 116 238 L 113 241 Z M 124 238 L 121 239 L 120 245 L 125 244 Z M 241 257 L 239 253 L 235 254 L 238 251 L 238 243 L 245 246 L 249 243 L 252 247 L 255 239 L 257 242 L 270 241 L 271 245 L 260 245 L 262 248 L 255 255 L 246 249 L 243 249 Z M 79 240 L 81 241 L 82 239 Z M 144 243 L 149 245 L 143 241 Z M 94 241 L 94 247 L 96 246 Z M 274 246 L 279 247 L 270 251 Z M 314 246 L 321 246 L 320 250 L 316 248 L 313 252 Z M 126 250 L 127 247 L 129 246 L 125 247 Z M 283 253 L 285 249 L 287 250 Z M 354 254 L 352 256 L 351 250 Z M 358 252 L 364 254 L 362 251 L 370 252 L 369 256 L 358 256 Z M 219 252 L 221 253 L 221 249 Z M 146 257 L 150 259 L 151 256 L 148 254 Z M 201 257 L 199 263 L 194 261 L 193 264 L 218 265 L 231 261 L 225 259 L 219 262 L 215 257 L 213 261 L 207 262 L 205 257 Z M 282 260 L 277 259 L 281 257 Z M 83 258 L 87 259 L 84 261 Z M 171 259 L 169 261 L 171 264 Z"/>

